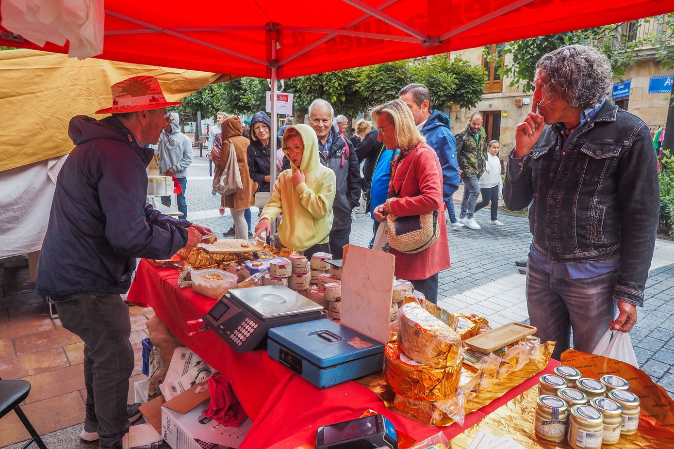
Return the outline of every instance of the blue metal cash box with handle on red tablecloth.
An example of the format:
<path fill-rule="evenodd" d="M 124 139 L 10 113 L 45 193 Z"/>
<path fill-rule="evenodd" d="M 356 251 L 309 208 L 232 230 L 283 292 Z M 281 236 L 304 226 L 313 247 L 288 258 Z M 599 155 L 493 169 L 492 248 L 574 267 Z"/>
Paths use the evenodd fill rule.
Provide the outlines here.
<path fill-rule="evenodd" d="M 328 318 L 270 329 L 267 353 L 319 388 L 384 368 L 384 345 Z"/>

